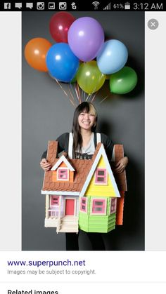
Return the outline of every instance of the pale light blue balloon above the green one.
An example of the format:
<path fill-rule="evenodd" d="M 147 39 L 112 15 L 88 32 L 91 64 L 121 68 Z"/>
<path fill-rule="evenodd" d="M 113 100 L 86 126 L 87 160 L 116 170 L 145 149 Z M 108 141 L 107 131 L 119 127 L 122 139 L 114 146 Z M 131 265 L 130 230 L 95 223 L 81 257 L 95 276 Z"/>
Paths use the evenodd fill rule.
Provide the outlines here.
<path fill-rule="evenodd" d="M 97 64 L 103 74 L 113 74 L 125 66 L 127 47 L 118 40 L 106 41 L 97 55 Z"/>

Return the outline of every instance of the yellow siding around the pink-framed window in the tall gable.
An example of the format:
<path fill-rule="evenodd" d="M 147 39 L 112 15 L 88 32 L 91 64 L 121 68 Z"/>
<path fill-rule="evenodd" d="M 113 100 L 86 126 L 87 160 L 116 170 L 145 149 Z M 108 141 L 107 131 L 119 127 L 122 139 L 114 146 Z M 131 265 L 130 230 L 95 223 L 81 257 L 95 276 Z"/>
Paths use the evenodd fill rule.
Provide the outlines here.
<path fill-rule="evenodd" d="M 106 163 L 103 160 L 103 156 L 101 156 L 100 161 L 98 162 L 97 168 L 106 168 Z M 85 192 L 86 196 L 111 196 L 116 197 L 117 194 L 115 189 L 113 188 L 113 184 L 110 181 L 110 177 L 108 175 L 108 185 L 95 185 L 95 173 L 89 182 L 89 186 L 87 191 Z"/>

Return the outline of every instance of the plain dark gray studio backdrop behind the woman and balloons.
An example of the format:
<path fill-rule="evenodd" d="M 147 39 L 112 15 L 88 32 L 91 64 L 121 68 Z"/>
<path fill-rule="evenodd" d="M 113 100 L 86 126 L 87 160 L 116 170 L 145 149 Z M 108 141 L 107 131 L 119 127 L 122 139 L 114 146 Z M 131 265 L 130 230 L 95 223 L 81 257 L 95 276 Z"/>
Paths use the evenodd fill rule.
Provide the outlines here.
<path fill-rule="evenodd" d="M 43 37 L 54 44 L 49 21 L 54 12 L 23 12 L 23 52 L 27 41 Z M 98 130 L 123 144 L 129 157 L 128 192 L 124 225 L 104 234 L 107 250 L 144 250 L 144 14 L 141 12 L 72 12 L 75 18 L 91 16 L 103 26 L 106 39 L 118 39 L 129 50 L 127 65 L 139 81 L 126 95 L 110 95 L 108 81 L 94 105 Z M 63 83 L 63 88 L 67 87 Z M 65 88 L 68 90 L 68 88 Z M 65 235 L 44 228 L 45 199 L 41 195 L 44 172 L 39 166 L 48 140 L 71 131 L 74 107 L 49 74 L 32 69 L 23 55 L 23 250 L 65 250 Z M 91 246 L 84 232 L 79 246 Z M 87 247 L 86 247 L 87 248 Z"/>

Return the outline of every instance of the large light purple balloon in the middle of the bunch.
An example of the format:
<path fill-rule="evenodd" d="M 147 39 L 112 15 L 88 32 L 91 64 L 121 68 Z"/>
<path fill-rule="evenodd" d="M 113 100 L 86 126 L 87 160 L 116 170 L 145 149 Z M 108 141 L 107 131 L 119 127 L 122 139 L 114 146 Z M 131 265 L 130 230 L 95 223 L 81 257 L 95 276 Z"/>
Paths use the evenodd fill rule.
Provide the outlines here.
<path fill-rule="evenodd" d="M 94 59 L 103 41 L 103 28 L 94 18 L 78 18 L 68 32 L 68 44 L 72 52 L 83 61 Z"/>

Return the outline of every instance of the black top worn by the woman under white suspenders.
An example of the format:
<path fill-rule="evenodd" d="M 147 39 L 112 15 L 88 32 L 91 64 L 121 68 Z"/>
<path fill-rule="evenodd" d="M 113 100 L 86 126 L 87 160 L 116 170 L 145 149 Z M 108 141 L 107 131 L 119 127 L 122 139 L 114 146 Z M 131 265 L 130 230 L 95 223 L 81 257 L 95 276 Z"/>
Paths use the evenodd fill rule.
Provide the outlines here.
<path fill-rule="evenodd" d="M 56 141 L 58 141 L 58 153 L 60 152 L 66 152 L 68 153 L 68 144 L 69 144 L 69 133 L 63 133 L 60 135 Z M 101 133 L 101 143 L 103 143 L 106 154 L 108 156 L 108 160 L 110 161 L 113 154 L 113 141 L 108 138 L 107 135 Z M 97 141 L 96 141 L 96 133 L 94 133 L 94 145 L 96 147 Z M 42 154 L 41 159 L 46 159 L 47 150 Z M 86 158 L 85 156 L 83 159 Z"/>

